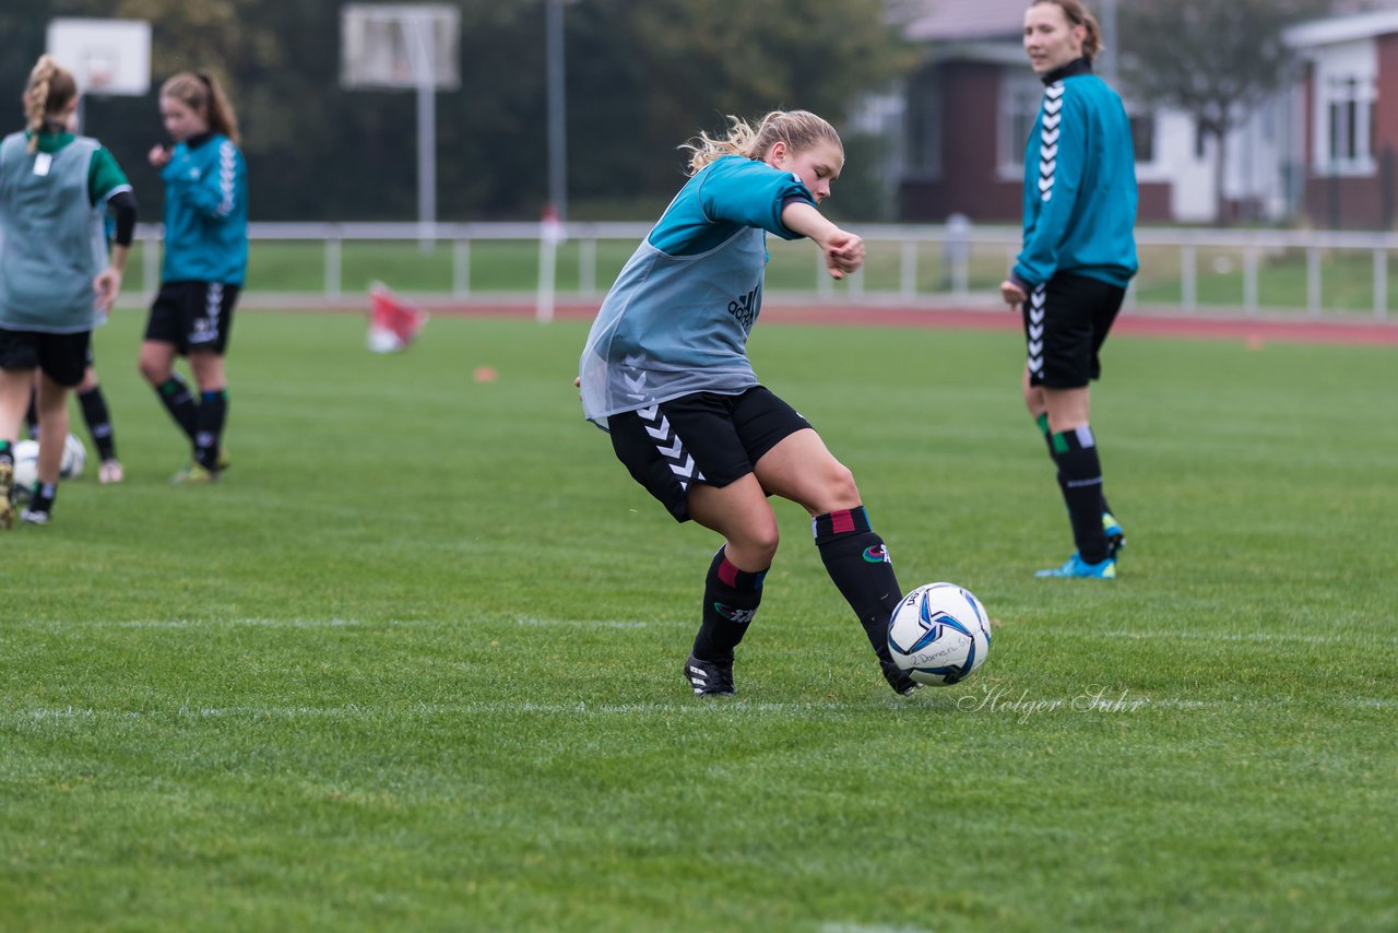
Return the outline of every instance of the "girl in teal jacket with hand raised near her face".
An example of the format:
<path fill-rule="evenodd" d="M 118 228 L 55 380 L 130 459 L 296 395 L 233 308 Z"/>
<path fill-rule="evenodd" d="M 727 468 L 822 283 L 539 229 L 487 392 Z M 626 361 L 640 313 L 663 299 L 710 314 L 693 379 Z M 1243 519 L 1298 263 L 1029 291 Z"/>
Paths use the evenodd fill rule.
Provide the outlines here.
<path fill-rule="evenodd" d="M 233 109 L 211 76 L 165 81 L 161 120 L 175 148 L 150 152 L 165 182 L 165 259 L 140 366 L 194 450 L 173 481 L 212 483 L 228 467 L 224 354 L 247 271 L 247 168 Z M 189 358 L 199 401 L 175 372 L 178 355 Z"/>

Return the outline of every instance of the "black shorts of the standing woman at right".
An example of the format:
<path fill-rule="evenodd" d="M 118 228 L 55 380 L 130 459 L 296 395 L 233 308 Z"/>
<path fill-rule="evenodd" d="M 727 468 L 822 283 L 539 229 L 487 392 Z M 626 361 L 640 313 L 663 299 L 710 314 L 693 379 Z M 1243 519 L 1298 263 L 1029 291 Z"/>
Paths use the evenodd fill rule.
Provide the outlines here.
<path fill-rule="evenodd" d="M 1058 273 L 1023 305 L 1029 385 L 1081 389 L 1102 375 L 1097 351 L 1121 311 L 1125 290 Z"/>

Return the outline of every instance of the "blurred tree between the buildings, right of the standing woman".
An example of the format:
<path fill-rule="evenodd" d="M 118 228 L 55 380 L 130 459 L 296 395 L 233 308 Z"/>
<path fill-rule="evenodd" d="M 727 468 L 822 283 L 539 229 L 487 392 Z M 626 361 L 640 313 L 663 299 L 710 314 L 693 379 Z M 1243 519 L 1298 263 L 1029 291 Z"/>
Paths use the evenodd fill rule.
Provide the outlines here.
<path fill-rule="evenodd" d="M 1184 111 L 1218 143 L 1216 215 L 1226 218 L 1229 133 L 1292 76 L 1282 32 L 1327 0 L 1134 0 L 1121 10 L 1121 74 L 1146 102 Z"/>

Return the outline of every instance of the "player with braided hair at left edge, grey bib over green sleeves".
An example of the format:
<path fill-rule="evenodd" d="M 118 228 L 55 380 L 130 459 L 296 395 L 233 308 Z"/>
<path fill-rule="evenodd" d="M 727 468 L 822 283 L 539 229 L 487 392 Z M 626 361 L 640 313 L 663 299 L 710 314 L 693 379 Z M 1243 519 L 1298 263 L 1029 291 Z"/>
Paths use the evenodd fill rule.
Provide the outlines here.
<path fill-rule="evenodd" d="M 73 74 L 42 56 L 24 90 L 25 129 L 0 143 L 0 527 L 14 523 L 14 441 L 38 373 L 39 481 L 21 518 L 48 525 L 92 329 L 106 320 L 136 228 L 136 197 L 96 140 L 69 130 Z M 108 248 L 105 214 L 116 218 Z"/>

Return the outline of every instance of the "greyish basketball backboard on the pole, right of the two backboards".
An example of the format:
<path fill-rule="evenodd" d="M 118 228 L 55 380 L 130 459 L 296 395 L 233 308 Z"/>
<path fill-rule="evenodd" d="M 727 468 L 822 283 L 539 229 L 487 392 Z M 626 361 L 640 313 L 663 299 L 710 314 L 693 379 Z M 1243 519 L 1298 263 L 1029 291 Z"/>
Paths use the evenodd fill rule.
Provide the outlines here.
<path fill-rule="evenodd" d="M 442 3 L 340 8 L 340 83 L 347 88 L 461 87 L 461 11 Z"/>

